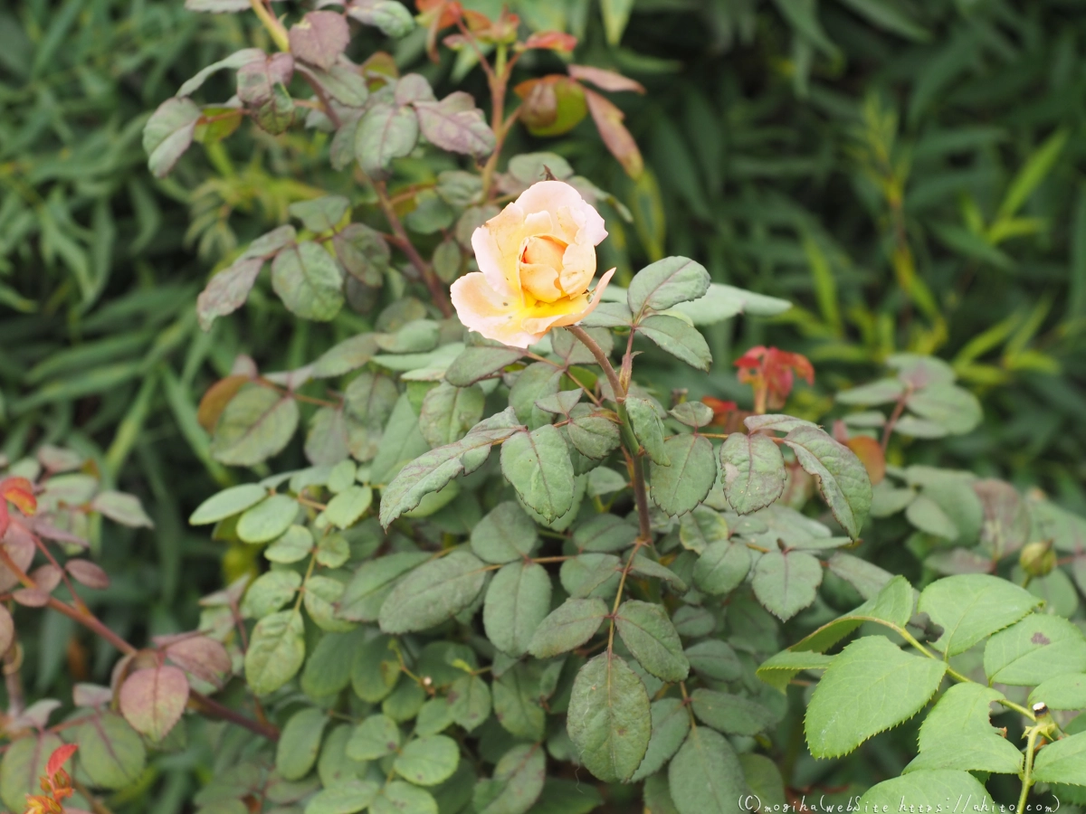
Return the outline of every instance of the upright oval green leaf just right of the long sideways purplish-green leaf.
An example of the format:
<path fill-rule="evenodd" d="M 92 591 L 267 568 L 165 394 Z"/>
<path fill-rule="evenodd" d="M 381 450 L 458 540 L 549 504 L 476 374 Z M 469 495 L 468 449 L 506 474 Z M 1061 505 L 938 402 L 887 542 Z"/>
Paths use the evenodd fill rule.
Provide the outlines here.
<path fill-rule="evenodd" d="M 482 607 L 487 638 L 498 650 L 523 656 L 551 610 L 551 577 L 535 562 L 510 562 L 491 580 Z"/>

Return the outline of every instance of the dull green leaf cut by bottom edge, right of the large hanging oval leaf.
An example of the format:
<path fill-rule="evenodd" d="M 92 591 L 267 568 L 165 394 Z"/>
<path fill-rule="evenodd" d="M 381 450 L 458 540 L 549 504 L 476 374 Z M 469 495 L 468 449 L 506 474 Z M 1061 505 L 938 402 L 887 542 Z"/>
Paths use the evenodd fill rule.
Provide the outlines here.
<path fill-rule="evenodd" d="M 694 727 L 668 766 L 679 814 L 733 814 L 746 789 L 735 750 L 723 735 Z"/>

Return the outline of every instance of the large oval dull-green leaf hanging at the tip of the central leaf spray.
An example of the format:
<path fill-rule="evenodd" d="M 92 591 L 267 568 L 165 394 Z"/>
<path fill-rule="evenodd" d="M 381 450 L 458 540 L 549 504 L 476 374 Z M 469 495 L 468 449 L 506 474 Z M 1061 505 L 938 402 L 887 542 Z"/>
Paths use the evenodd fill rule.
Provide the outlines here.
<path fill-rule="evenodd" d="M 585 768 L 605 783 L 629 780 L 652 734 L 645 685 L 618 656 L 601 653 L 577 673 L 566 726 Z"/>

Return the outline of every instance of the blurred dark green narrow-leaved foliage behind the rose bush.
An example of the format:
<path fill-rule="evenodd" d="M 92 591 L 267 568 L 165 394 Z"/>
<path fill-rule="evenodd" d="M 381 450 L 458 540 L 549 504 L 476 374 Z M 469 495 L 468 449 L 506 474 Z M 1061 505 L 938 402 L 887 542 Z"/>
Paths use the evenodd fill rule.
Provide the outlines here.
<path fill-rule="evenodd" d="M 628 3 L 603 5 L 514 10 L 576 34 L 580 63 L 646 86 L 616 101 L 648 171 L 629 180 L 588 122 L 559 140 L 518 131 L 508 152 L 557 152 L 630 208 L 629 224 L 606 213 L 602 246 L 623 284 L 649 260 L 684 255 L 718 282 L 799 306 L 710 329 L 708 377 L 664 357 L 645 376 L 661 392 L 744 398 L 731 359 L 774 344 L 816 364 L 816 385 L 793 409 L 819 420 L 830 394 L 875 378 L 889 354 L 934 354 L 981 398 L 985 421 L 937 445 L 895 446 L 892 460 L 1003 478 L 1086 509 L 1086 73 L 1074 5 L 639 0 L 628 17 Z M 167 180 L 146 171 L 149 112 L 200 67 L 266 40 L 251 26 L 175 2 L 0 11 L 3 453 L 64 444 L 143 498 L 153 533 L 94 532 L 114 577 L 97 610 L 135 637 L 193 626 L 197 597 L 250 564 L 243 547 L 224 554 L 185 524 L 235 476 L 197 423 L 204 390 L 238 354 L 290 369 L 352 332 L 350 320 L 290 319 L 260 291 L 211 334 L 192 308 L 210 267 L 282 222 L 289 203 L 345 182 L 307 139 L 245 128 L 193 150 Z M 439 96 L 484 97 L 478 71 L 454 55 L 428 64 L 421 34 L 397 43 L 370 34 L 366 44 L 393 50 Z M 521 65 L 527 78 L 558 63 Z M 301 463 L 300 444 L 285 457 L 283 468 Z M 67 695 L 79 671 L 108 677 L 108 648 L 42 619 L 24 635 L 36 694 Z M 156 768 L 164 777 L 146 778 L 127 804 L 181 811 L 209 761 Z"/>

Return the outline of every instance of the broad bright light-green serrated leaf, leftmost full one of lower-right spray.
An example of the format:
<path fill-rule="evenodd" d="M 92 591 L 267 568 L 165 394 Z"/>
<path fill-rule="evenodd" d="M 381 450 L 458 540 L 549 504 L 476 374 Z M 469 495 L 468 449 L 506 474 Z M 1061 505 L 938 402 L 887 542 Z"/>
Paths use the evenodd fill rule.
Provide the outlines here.
<path fill-rule="evenodd" d="M 917 714 L 935 695 L 947 664 L 901 652 L 883 636 L 848 645 L 815 688 L 804 728 L 816 758 L 846 754 Z"/>

